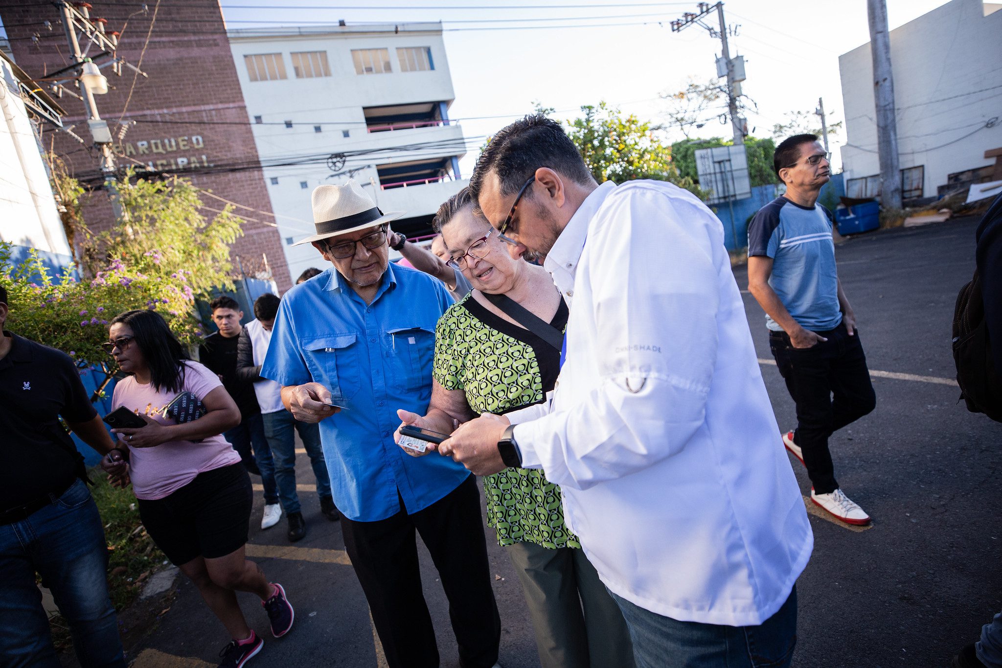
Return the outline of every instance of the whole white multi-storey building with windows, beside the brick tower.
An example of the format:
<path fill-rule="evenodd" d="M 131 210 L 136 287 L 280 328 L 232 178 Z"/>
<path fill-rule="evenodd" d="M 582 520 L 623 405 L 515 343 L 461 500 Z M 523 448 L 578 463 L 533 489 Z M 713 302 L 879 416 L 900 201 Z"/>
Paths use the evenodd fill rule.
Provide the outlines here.
<path fill-rule="evenodd" d="M 295 278 L 321 261 L 310 245 L 312 190 L 362 183 L 408 236 L 466 181 L 462 128 L 441 23 L 228 30 L 265 181 Z"/>

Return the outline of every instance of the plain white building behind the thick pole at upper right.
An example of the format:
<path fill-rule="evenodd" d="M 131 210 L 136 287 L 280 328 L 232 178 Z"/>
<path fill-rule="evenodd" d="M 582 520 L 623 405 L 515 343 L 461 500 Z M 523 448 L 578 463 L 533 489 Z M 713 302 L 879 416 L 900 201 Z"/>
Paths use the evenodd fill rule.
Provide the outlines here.
<path fill-rule="evenodd" d="M 1002 147 L 1002 4 L 953 0 L 891 31 L 902 195 L 987 181 Z M 870 43 L 839 58 L 846 194 L 880 188 Z"/>

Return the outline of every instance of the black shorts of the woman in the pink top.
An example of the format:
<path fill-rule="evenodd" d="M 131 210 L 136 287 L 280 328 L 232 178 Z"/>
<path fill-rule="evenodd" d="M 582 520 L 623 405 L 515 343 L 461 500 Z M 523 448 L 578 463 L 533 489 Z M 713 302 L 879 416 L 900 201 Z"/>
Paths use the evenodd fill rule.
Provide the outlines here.
<path fill-rule="evenodd" d="M 138 499 L 139 517 L 156 547 L 175 566 L 216 559 L 247 542 L 254 492 L 243 465 L 198 474 L 162 499 Z"/>

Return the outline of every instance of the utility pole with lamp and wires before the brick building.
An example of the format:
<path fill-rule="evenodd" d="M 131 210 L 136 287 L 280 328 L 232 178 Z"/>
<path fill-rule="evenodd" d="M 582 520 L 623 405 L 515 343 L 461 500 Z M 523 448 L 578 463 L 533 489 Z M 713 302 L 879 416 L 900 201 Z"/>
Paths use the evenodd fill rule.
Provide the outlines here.
<path fill-rule="evenodd" d="M 97 102 L 94 101 L 94 82 L 103 80 L 103 76 L 101 76 L 97 65 L 86 56 L 91 46 L 97 46 L 101 49 L 99 55 L 112 55 L 112 59 L 105 65 L 111 64 L 112 70 L 120 75 L 123 61 L 115 55 L 115 51 L 118 49 L 117 33 L 104 32 L 104 24 L 106 23 L 104 19 L 90 18 L 90 5 L 88 3 L 72 5 L 61 0 L 57 5 L 62 14 L 63 29 L 66 32 L 66 40 L 73 58 L 68 69 L 74 70 L 76 75 L 74 78 L 79 82 L 80 99 L 83 101 L 84 111 L 87 114 L 87 127 L 93 136 L 94 146 L 101 152 L 100 169 L 104 176 L 104 187 L 108 190 L 115 219 L 120 220 L 123 216 L 123 210 L 118 197 L 118 178 L 115 175 L 115 154 L 111 148 L 111 131 L 108 129 L 107 121 L 101 118 L 97 110 Z M 77 31 L 79 31 L 80 37 L 87 39 L 88 44 L 85 50 L 81 51 L 80 49 Z M 61 87 L 61 83 L 57 83 L 54 87 Z M 96 92 L 107 92 L 106 80 L 104 80 L 103 89 L 98 89 Z"/>

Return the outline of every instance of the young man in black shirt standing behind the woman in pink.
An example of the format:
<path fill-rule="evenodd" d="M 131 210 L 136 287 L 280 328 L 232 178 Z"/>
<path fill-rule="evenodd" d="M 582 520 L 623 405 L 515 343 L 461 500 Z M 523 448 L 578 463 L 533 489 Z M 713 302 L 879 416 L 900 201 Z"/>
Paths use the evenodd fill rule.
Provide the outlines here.
<path fill-rule="evenodd" d="M 279 523 L 282 506 L 279 504 L 279 485 L 275 480 L 275 459 L 265 437 L 265 423 L 254 383 L 236 375 L 236 345 L 243 330 L 240 324 L 243 311 L 236 299 L 226 295 L 215 297 L 208 305 L 212 309 L 212 321 L 219 330 L 202 340 L 198 347 L 198 362 L 219 377 L 222 387 L 240 410 L 240 424 L 222 437 L 239 454 L 246 470 L 261 476 L 261 484 L 265 488 L 265 514 L 261 528 L 268 529 Z"/>

